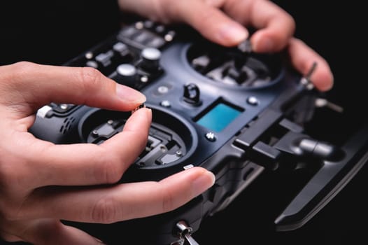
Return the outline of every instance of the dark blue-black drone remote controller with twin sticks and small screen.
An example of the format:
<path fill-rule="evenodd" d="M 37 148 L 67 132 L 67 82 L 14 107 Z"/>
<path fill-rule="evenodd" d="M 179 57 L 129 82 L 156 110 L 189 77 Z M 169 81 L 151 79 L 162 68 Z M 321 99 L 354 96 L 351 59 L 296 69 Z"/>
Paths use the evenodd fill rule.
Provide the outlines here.
<path fill-rule="evenodd" d="M 309 77 L 279 54 L 252 52 L 247 42 L 226 48 L 192 30 L 140 20 L 65 65 L 92 66 L 147 97 L 153 110 L 147 145 L 122 183 L 159 181 L 193 166 L 216 176 L 212 188 L 166 214 L 110 224 L 113 229 L 71 222 L 110 244 L 119 241 L 118 230 L 144 234 L 136 244 L 197 244 L 192 233 L 201 221 L 225 209 L 263 172 L 307 162 L 311 178 L 275 221 L 278 230 L 296 229 L 368 158 L 368 127 L 342 146 L 309 137 L 303 124 L 317 96 Z M 51 103 L 38 110 L 29 131 L 55 144 L 101 144 L 121 132 L 130 115 Z"/>

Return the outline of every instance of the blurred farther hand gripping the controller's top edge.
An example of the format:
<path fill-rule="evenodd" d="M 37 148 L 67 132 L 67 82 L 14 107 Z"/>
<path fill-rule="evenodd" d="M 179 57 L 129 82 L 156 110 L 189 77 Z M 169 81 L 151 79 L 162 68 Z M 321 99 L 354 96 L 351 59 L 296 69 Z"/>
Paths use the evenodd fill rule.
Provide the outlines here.
<path fill-rule="evenodd" d="M 288 51 L 292 65 L 306 75 L 313 63 L 311 81 L 320 91 L 332 88 L 334 77 L 329 64 L 306 43 L 293 37 L 295 21 L 282 8 L 267 0 L 119 0 L 120 8 L 151 20 L 185 22 L 204 37 L 225 46 L 250 36 L 255 52 Z"/>

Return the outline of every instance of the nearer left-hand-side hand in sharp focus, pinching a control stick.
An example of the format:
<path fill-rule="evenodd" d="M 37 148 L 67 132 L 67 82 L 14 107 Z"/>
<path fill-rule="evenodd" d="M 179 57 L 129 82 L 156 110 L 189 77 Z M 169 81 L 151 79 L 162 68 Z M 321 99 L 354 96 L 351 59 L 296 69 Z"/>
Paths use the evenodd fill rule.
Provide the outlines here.
<path fill-rule="evenodd" d="M 101 244 L 60 220 L 113 223 L 176 209 L 213 185 L 194 167 L 159 182 L 117 183 L 143 151 L 151 111 L 139 109 L 101 145 L 55 145 L 28 132 L 50 102 L 131 111 L 146 101 L 90 67 L 0 66 L 0 236 L 31 244 Z M 122 144 L 129 142 L 129 144 Z"/>

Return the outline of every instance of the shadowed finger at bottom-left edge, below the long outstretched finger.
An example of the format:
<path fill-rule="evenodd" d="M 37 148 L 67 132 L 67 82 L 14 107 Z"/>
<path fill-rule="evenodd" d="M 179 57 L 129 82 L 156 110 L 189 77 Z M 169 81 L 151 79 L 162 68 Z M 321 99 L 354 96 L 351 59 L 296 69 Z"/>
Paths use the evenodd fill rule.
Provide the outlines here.
<path fill-rule="evenodd" d="M 64 225 L 54 219 L 13 221 L 7 225 L 6 229 L 11 230 L 10 233 L 4 236 L 7 241 L 26 241 L 37 245 L 103 244 L 102 241 L 88 235 L 86 232 Z M 13 237 L 16 239 L 13 239 Z"/>

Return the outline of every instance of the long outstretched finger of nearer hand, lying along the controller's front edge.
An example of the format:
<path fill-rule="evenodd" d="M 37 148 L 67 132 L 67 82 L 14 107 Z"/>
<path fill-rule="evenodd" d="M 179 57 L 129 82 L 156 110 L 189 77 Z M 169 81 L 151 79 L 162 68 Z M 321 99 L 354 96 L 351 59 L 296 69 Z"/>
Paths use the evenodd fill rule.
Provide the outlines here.
<path fill-rule="evenodd" d="M 114 223 L 181 207 L 210 188 L 214 181 L 215 176 L 211 172 L 194 167 L 160 182 L 123 183 L 80 190 L 38 190 L 23 203 L 19 215 L 21 218 L 50 217 Z"/>

